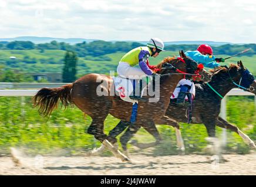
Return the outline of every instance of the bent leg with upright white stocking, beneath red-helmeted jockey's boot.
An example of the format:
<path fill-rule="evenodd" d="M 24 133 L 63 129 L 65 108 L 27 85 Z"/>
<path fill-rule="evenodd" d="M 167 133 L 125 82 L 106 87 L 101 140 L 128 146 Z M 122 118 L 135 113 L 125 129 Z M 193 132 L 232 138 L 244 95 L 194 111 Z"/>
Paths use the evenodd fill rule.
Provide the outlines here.
<path fill-rule="evenodd" d="M 169 126 L 173 126 L 174 127 L 175 132 L 176 132 L 178 150 L 181 151 L 180 154 L 184 154 L 185 153 L 185 146 L 184 146 L 183 138 L 181 136 L 180 126 L 178 125 L 178 122 L 176 120 L 174 120 L 174 119 L 171 119 L 168 116 L 163 116 L 163 117 L 161 117 L 160 120 L 157 120 L 156 123 L 157 124 L 167 124 Z"/>

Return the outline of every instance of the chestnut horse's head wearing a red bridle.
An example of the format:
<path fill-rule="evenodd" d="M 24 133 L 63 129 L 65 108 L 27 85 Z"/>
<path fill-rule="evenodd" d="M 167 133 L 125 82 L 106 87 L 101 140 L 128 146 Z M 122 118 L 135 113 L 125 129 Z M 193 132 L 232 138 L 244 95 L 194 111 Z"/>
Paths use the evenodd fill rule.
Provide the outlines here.
<path fill-rule="evenodd" d="M 187 74 L 197 74 L 198 76 L 194 76 L 196 81 L 208 82 L 211 80 L 212 75 L 203 70 L 203 64 L 197 64 L 196 61 L 187 57 L 184 54 L 183 50 L 180 51 L 180 57 L 173 58 L 167 57 L 157 66 L 160 69 L 159 74 L 170 74 L 170 73 L 184 73 Z M 186 75 L 186 77 L 190 77 L 191 75 Z"/>

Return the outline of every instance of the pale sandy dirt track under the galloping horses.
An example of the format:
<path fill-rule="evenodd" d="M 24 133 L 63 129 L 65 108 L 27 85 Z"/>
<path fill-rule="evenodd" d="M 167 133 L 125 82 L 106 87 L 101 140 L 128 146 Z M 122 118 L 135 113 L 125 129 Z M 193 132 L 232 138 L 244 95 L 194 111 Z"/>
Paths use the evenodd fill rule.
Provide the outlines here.
<path fill-rule="evenodd" d="M 228 161 L 219 165 L 205 155 L 131 157 L 132 164 L 115 157 L 23 158 L 25 168 L 0 157 L 0 175 L 256 175 L 255 154 L 224 155 Z"/>

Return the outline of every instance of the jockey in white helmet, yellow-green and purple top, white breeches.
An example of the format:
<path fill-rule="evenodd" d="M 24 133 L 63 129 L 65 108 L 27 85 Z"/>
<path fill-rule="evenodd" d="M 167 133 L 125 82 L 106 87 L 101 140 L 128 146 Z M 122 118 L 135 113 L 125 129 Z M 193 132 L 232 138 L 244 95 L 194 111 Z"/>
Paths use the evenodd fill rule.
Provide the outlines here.
<path fill-rule="evenodd" d="M 155 65 L 149 65 L 149 57 L 157 57 L 164 50 L 164 43 L 158 38 L 150 39 L 145 47 L 137 47 L 124 54 L 117 66 L 117 74 L 129 79 L 142 79 L 154 75 Z M 139 67 L 134 67 L 139 65 Z M 130 96 L 131 99 L 142 99 L 140 96 Z"/>

